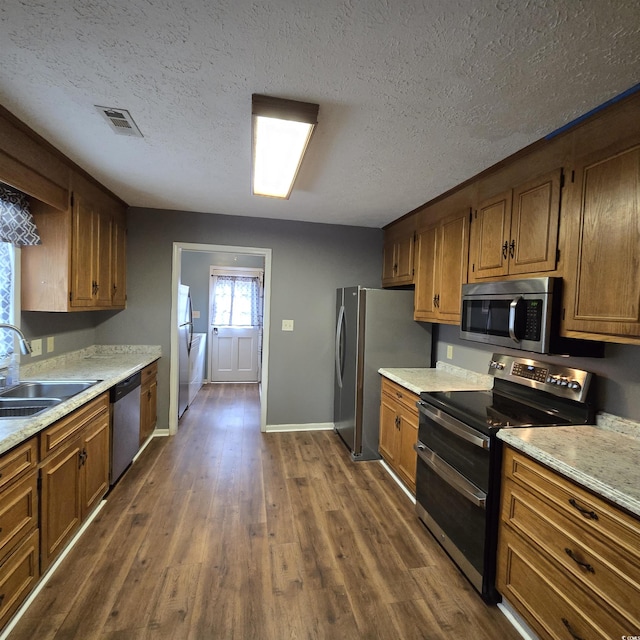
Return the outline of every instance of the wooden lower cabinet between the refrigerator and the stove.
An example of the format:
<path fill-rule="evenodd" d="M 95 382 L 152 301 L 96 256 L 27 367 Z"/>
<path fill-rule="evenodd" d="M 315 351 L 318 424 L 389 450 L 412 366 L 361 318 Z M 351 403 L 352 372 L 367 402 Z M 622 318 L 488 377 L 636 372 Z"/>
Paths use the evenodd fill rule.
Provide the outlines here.
<path fill-rule="evenodd" d="M 418 441 L 418 396 L 382 378 L 380 397 L 380 455 L 415 493 Z"/>

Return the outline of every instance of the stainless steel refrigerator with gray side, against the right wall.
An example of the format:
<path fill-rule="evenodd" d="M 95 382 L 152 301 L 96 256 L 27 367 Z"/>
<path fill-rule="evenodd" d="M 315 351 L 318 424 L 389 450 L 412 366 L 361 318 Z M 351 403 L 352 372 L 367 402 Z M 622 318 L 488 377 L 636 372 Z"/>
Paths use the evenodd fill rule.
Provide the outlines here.
<path fill-rule="evenodd" d="M 333 422 L 353 460 L 376 460 L 380 367 L 430 367 L 431 325 L 413 320 L 413 291 L 338 289 Z"/>

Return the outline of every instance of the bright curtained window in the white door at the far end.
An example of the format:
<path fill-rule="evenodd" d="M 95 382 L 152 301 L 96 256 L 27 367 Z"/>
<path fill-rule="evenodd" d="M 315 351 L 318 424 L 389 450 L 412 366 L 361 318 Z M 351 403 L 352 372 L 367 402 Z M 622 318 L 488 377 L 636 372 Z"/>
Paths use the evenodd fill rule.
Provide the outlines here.
<path fill-rule="evenodd" d="M 260 279 L 216 275 L 211 310 L 212 324 L 224 327 L 260 325 Z"/>

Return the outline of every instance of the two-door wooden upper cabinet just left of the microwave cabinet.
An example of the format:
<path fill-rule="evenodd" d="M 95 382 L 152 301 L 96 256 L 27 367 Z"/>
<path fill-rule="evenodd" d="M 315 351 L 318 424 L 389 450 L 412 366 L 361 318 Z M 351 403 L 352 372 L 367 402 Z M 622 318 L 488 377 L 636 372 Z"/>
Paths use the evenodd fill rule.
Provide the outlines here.
<path fill-rule="evenodd" d="M 468 245 L 468 209 L 417 232 L 415 320 L 460 322 L 460 293 L 467 281 Z"/>

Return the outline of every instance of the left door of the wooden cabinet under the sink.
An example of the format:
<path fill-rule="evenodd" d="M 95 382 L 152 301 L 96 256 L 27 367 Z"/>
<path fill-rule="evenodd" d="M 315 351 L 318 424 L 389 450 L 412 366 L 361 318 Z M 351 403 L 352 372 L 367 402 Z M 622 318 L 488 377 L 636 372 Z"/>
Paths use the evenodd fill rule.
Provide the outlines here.
<path fill-rule="evenodd" d="M 80 440 L 51 456 L 41 468 L 41 569 L 44 571 L 80 526 Z"/>

